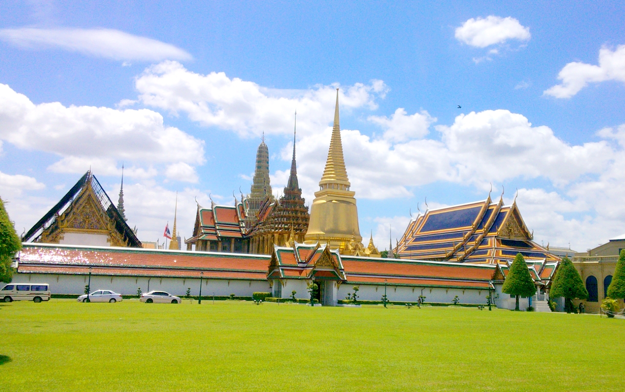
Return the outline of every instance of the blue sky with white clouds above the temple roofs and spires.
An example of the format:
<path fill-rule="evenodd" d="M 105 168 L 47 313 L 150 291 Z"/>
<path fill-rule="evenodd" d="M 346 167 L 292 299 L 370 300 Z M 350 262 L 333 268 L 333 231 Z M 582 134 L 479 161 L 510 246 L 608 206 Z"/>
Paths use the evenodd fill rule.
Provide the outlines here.
<path fill-rule="evenodd" d="M 195 197 L 249 192 L 263 131 L 281 190 L 297 109 L 311 202 L 339 87 L 363 237 L 492 183 L 537 242 L 585 250 L 625 232 L 624 7 L 2 2 L 0 195 L 22 232 L 89 166 L 116 201 L 124 163 L 139 238 L 176 191 L 189 237 Z"/>

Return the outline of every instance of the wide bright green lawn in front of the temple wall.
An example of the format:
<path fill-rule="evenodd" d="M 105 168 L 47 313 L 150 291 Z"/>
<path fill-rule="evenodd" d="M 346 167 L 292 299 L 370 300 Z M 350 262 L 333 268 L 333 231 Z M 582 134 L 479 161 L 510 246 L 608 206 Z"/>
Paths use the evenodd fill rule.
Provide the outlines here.
<path fill-rule="evenodd" d="M 622 391 L 624 320 L 402 306 L 0 304 L 0 391 Z"/>

